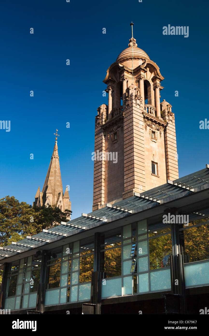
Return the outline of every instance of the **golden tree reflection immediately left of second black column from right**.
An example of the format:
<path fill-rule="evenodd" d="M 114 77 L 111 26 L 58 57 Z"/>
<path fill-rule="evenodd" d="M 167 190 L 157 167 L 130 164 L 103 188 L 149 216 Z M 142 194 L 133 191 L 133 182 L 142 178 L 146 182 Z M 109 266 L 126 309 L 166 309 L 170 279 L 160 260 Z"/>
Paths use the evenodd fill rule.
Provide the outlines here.
<path fill-rule="evenodd" d="M 90 255 L 89 253 L 92 253 L 92 251 L 86 251 L 85 256 L 80 258 L 80 283 L 91 281 L 92 272 L 94 270 L 94 254 Z"/>

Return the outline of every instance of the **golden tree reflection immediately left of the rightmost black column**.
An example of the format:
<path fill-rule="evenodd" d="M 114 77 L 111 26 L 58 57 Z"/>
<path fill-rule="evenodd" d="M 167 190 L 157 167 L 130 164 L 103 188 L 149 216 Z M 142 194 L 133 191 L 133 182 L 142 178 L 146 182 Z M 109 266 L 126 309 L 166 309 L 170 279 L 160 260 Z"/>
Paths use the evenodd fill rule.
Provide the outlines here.
<path fill-rule="evenodd" d="M 150 269 L 169 266 L 169 256 L 172 254 L 171 235 L 149 239 Z"/>

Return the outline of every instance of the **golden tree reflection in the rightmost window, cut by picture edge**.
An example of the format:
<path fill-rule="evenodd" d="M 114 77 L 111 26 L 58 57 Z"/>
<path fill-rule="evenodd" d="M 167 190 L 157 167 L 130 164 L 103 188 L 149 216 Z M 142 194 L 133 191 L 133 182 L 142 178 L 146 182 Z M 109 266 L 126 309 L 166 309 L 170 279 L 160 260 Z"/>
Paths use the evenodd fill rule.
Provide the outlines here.
<path fill-rule="evenodd" d="M 209 259 L 209 224 L 189 228 L 183 232 L 184 253 L 189 256 L 189 262 Z"/>

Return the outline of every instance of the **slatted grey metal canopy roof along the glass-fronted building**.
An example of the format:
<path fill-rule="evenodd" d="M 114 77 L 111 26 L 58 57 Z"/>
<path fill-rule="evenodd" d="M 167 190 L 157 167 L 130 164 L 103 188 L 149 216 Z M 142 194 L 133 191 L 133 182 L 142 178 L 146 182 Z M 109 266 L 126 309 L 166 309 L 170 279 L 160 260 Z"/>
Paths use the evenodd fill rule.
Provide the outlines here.
<path fill-rule="evenodd" d="M 208 166 L 208 165 L 207 165 Z M 208 184 L 208 186 L 206 186 Z M 163 185 L 155 187 L 143 193 L 135 193 L 135 196 L 121 200 L 114 204 L 106 204 L 104 208 L 95 210 L 89 214 L 82 214 L 81 217 L 54 226 L 48 230 L 38 233 L 32 237 L 22 239 L 16 243 L 0 248 L 0 260 L 14 256 L 22 252 L 43 247 L 54 241 L 85 232 L 95 224 L 103 225 L 112 222 L 118 215 L 121 217 L 131 216 L 133 213 L 144 211 L 148 205 L 157 207 L 168 202 L 170 197 L 181 198 L 198 192 L 198 188 L 205 185 L 209 188 L 209 169 L 205 168 L 196 173 L 168 181 Z M 194 190 L 195 188 L 195 190 Z M 185 194 L 185 192 L 187 192 Z M 94 225 L 92 225 L 94 224 Z"/>

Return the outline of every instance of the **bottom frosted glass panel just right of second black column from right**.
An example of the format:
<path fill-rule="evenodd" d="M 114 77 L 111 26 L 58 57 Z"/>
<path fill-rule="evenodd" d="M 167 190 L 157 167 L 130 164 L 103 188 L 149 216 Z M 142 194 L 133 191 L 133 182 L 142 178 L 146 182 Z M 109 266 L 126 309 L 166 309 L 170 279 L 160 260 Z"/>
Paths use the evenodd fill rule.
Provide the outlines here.
<path fill-rule="evenodd" d="M 104 281 L 105 280 L 105 281 Z M 104 279 L 102 281 L 102 297 L 121 296 L 122 295 L 122 279 Z"/>

